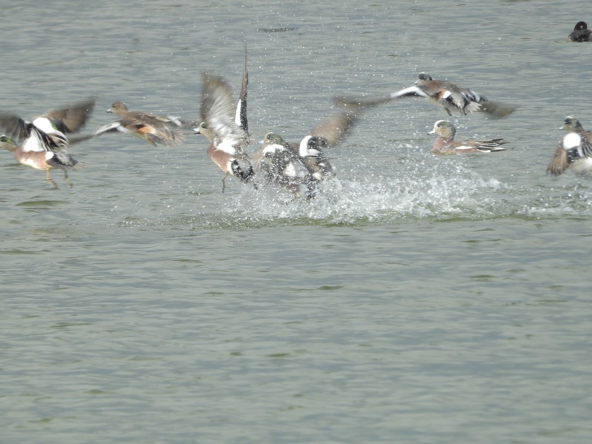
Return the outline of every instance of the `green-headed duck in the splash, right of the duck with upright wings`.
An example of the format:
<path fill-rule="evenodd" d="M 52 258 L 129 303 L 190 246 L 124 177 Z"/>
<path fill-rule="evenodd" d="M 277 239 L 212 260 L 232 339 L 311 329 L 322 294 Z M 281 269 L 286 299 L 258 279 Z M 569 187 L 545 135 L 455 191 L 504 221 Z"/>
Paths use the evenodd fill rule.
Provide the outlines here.
<path fill-rule="evenodd" d="M 260 184 L 279 185 L 297 196 L 304 192 L 307 198 L 317 192 L 318 179 L 314 177 L 314 170 L 279 134 L 265 135 L 263 146 L 253 155 L 253 163 Z"/>

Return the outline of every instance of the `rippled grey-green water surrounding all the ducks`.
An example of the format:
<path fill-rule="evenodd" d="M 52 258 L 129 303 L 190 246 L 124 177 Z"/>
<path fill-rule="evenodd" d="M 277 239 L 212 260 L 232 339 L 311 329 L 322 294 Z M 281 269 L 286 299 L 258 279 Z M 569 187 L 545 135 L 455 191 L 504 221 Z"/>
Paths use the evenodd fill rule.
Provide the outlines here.
<path fill-rule="evenodd" d="M 590 183 L 545 175 L 592 116 L 560 2 L 50 2 L 2 9 L 3 110 L 92 95 L 196 118 L 200 73 L 297 140 L 333 95 L 417 73 L 519 107 L 453 117 L 515 149 L 438 157 L 442 110 L 367 112 L 313 202 L 221 173 L 205 139 L 103 136 L 68 189 L 2 154 L 2 442 L 587 443 Z M 553 14 L 548 14 L 554 11 Z"/>

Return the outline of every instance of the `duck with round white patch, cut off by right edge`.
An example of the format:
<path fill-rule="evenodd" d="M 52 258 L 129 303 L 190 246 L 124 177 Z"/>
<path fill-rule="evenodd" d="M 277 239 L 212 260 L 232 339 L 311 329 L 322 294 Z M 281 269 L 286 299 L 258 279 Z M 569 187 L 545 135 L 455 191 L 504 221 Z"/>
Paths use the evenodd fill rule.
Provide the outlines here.
<path fill-rule="evenodd" d="M 571 116 L 565 118 L 564 128 L 568 133 L 559 140 L 547 172 L 558 176 L 571 167 L 576 175 L 592 175 L 592 131 L 585 131 Z"/>

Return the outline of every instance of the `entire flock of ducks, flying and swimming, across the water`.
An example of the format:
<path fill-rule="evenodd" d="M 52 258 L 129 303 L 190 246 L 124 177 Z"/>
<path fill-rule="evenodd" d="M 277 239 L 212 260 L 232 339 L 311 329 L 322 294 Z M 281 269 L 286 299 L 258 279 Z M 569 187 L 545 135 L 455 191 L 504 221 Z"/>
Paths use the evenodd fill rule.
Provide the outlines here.
<path fill-rule="evenodd" d="M 575 25 L 568 41 L 592 41 L 592 31 L 583 21 Z M 472 89 L 461 88 L 452 82 L 435 80 L 427 73 L 420 73 L 413 86 L 393 92 L 378 99 L 336 98 L 336 114 L 308 131 L 300 141 L 290 143 L 273 132 L 263 137 L 261 146 L 249 155 L 246 147 L 252 137 L 247 121 L 247 73 L 246 46 L 243 79 L 239 99 L 233 102 L 232 89 L 224 78 L 209 73 L 202 74 L 201 120 L 184 121 L 173 115 L 155 115 L 129 111 L 123 102 L 114 102 L 107 112 L 120 119 L 97 128 L 85 136 L 78 133 L 85 126 L 95 106 L 95 99 L 88 98 L 47 111 L 31 121 L 15 114 L 0 114 L 0 147 L 14 153 L 17 162 L 46 172 L 46 180 L 57 187 L 50 177 L 50 170 L 64 171 L 65 181 L 72 186 L 68 172 L 83 166 L 67 153 L 70 143 L 98 137 L 107 133 L 126 133 L 146 140 L 152 146 L 162 144 L 177 146 L 184 141 L 183 128 L 193 128 L 209 141 L 207 155 L 224 172 L 222 189 L 227 176 L 234 176 L 244 184 L 274 185 L 287 189 L 294 195 L 313 198 L 323 181 L 336 176 L 325 152 L 339 144 L 359 120 L 361 113 L 393 99 L 407 96 L 427 98 L 452 112 L 466 115 L 485 112 L 493 118 L 506 117 L 516 108 L 490 101 Z M 547 172 L 559 175 L 571 166 L 577 174 L 592 174 L 592 131 L 585 131 L 580 122 L 571 116 L 565 118 L 567 131 L 559 141 Z M 488 153 L 510 150 L 502 145 L 503 139 L 455 141 L 456 128 L 446 120 L 438 120 L 428 134 L 437 134 L 432 152 L 439 155 Z"/>

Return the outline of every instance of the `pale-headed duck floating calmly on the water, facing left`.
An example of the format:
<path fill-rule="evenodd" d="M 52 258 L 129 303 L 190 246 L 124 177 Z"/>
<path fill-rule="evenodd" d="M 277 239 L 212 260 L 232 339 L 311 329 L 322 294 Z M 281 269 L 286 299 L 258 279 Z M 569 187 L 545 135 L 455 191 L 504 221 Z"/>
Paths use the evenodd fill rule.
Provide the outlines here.
<path fill-rule="evenodd" d="M 507 143 L 503 139 L 454 141 L 456 128 L 446 120 L 438 120 L 434 124 L 433 130 L 427 134 L 438 134 L 432 147 L 432 153 L 440 155 L 490 153 L 513 149 L 502 147 L 501 145 Z"/>

